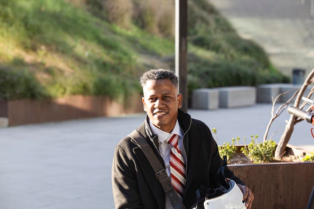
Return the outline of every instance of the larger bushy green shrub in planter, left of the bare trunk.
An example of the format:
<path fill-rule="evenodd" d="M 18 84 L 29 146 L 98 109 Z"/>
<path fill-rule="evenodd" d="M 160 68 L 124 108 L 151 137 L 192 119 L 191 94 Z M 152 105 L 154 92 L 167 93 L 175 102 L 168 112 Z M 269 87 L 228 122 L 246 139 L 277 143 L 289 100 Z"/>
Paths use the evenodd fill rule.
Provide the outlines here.
<path fill-rule="evenodd" d="M 267 140 L 261 143 L 257 141 L 258 135 L 251 135 L 251 143 L 248 146 L 245 144 L 244 139 L 244 147 L 241 148 L 241 151 L 254 163 L 263 163 L 263 162 L 271 162 L 273 161 L 274 151 L 276 149 L 276 142 L 273 140 Z"/>

